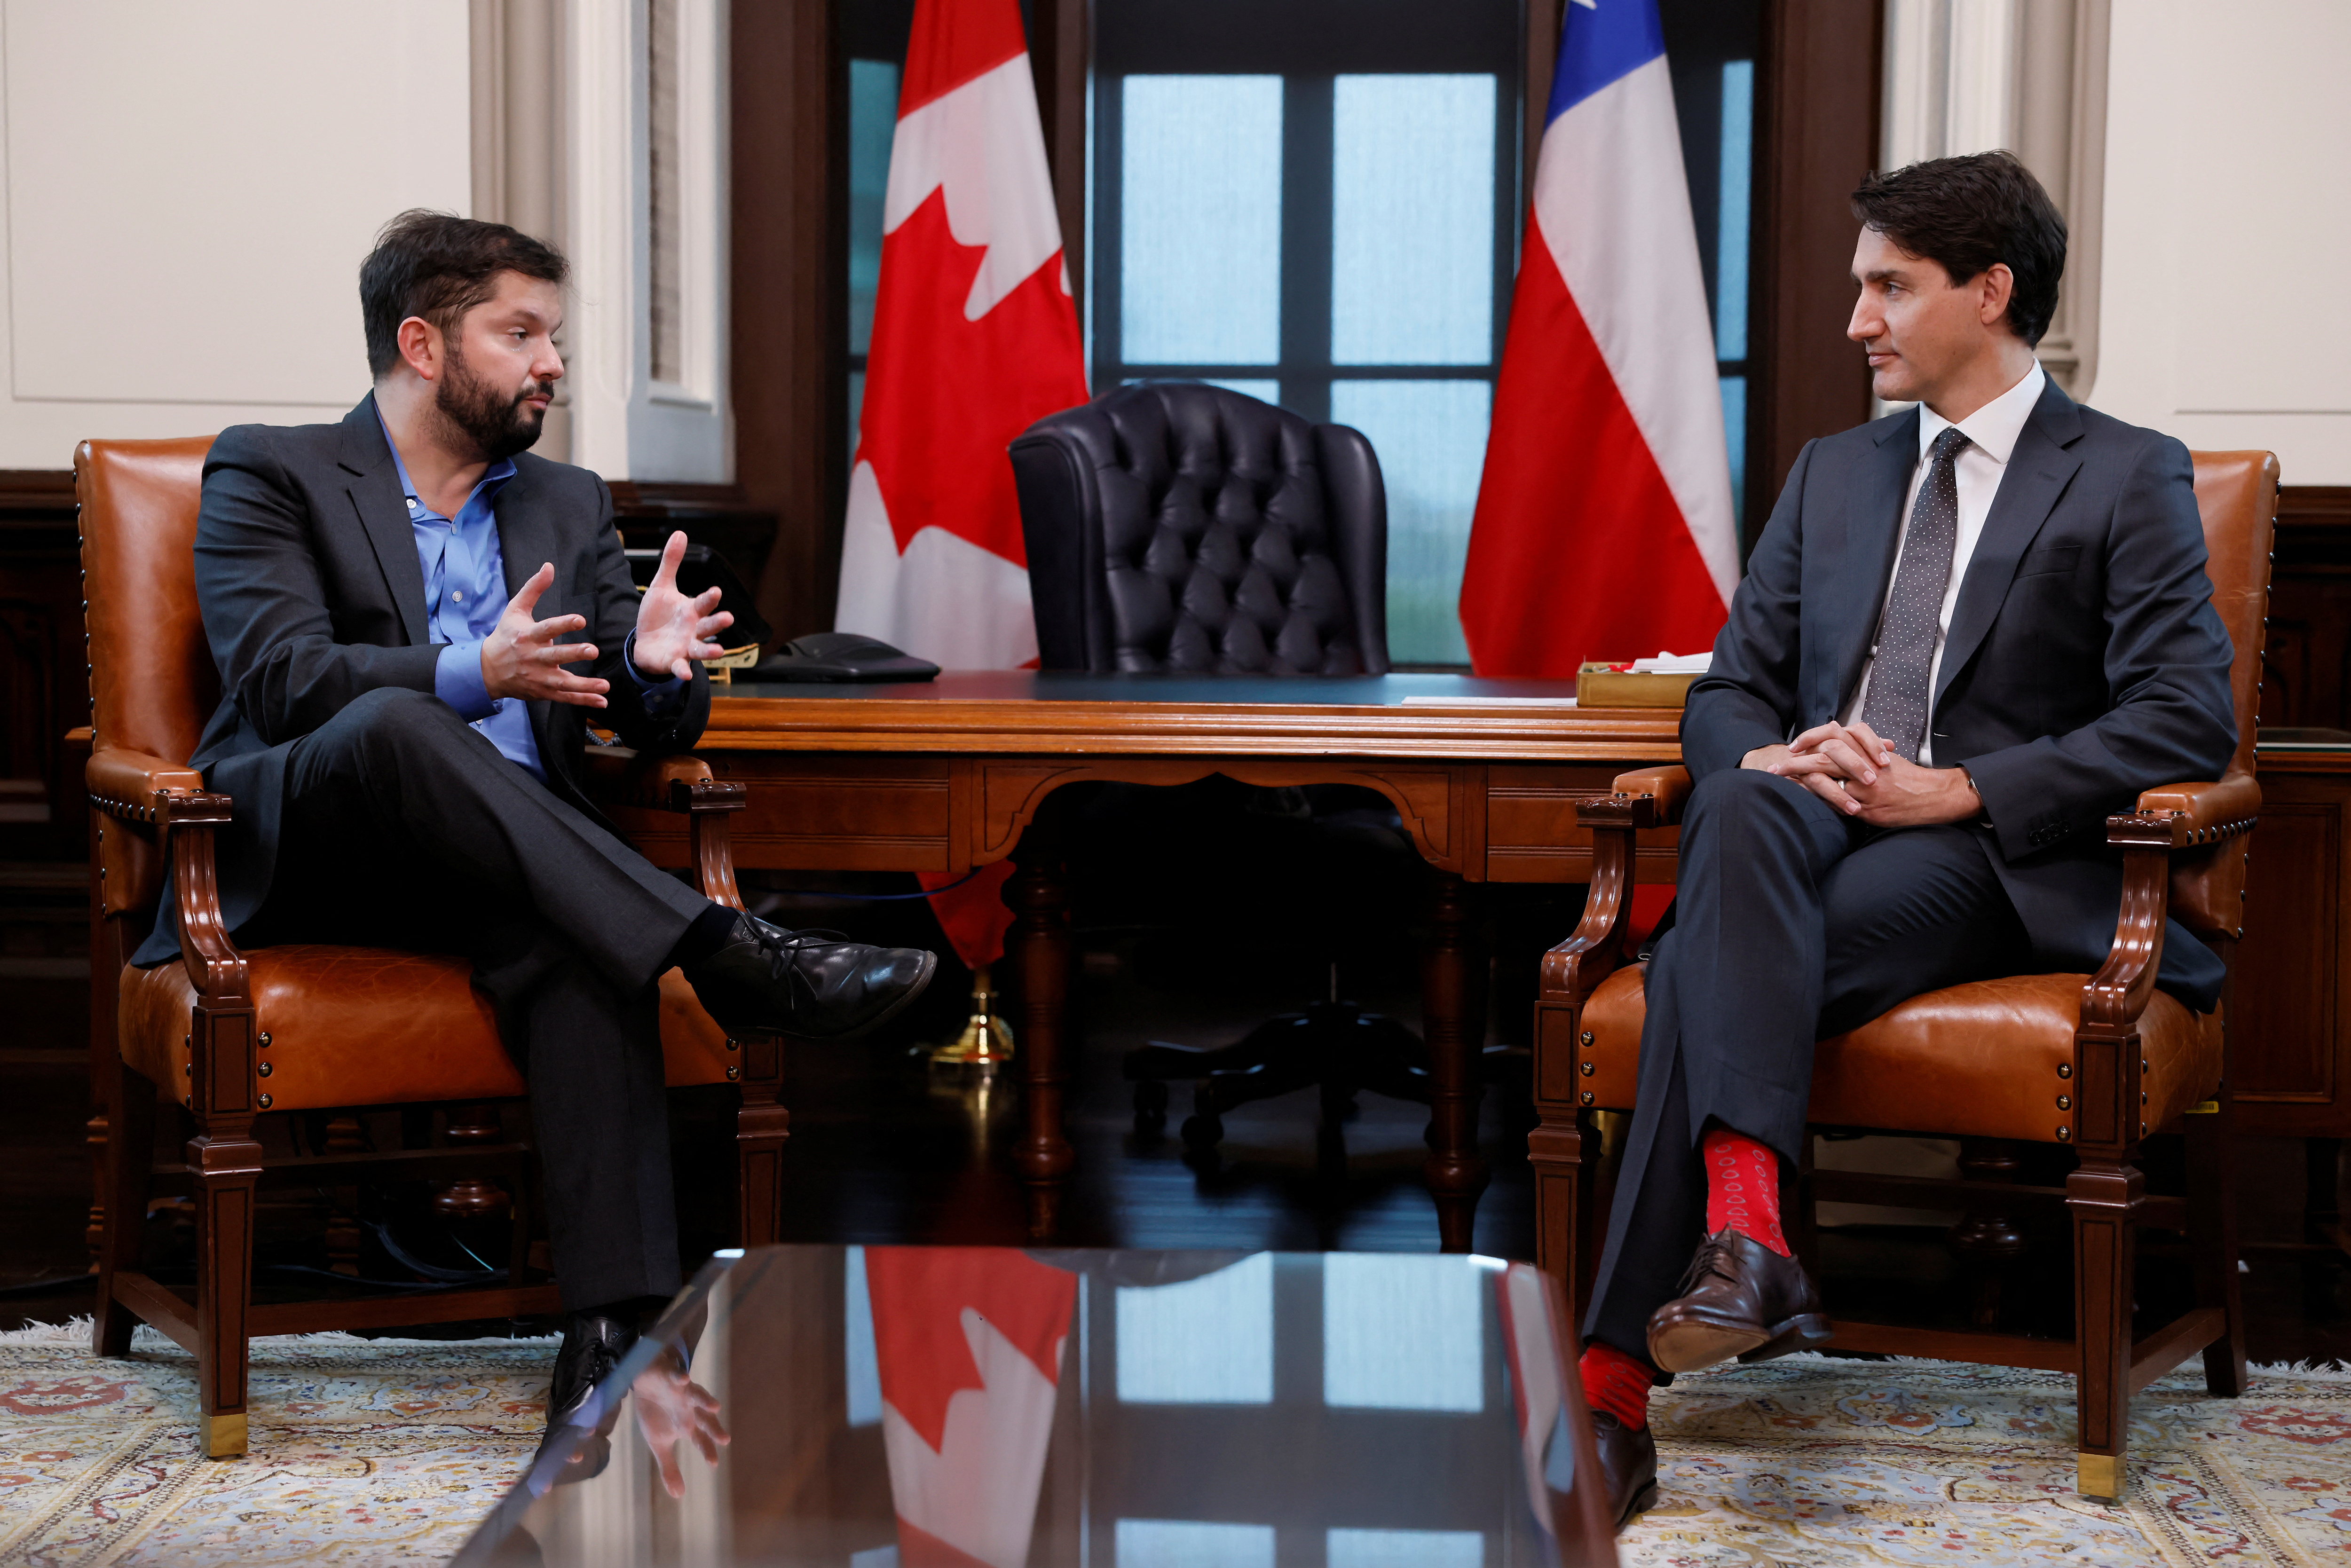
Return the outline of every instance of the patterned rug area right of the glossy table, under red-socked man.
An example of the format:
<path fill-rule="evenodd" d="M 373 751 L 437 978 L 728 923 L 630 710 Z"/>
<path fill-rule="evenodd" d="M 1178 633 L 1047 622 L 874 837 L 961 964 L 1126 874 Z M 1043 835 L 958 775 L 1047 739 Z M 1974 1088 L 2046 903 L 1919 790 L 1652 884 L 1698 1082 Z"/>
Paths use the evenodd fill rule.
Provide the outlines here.
<path fill-rule="evenodd" d="M 2069 1378 L 1831 1361 L 1683 1378 L 1650 1401 L 1660 1507 L 1625 1568 L 2351 1563 L 2351 1373 L 2266 1368 L 2130 1401 L 2130 1493 L 2074 1490 Z"/>

